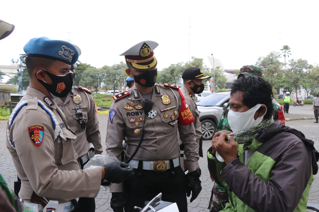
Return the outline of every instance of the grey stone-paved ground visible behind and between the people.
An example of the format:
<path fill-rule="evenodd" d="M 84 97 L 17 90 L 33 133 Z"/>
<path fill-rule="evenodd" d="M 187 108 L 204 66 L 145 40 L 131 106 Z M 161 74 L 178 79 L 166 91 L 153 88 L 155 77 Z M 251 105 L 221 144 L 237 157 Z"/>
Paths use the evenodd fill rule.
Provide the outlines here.
<path fill-rule="evenodd" d="M 289 114 L 285 114 L 287 119 L 286 125 L 296 128 L 302 131 L 306 138 L 312 139 L 315 142 L 316 149 L 319 149 L 319 138 L 318 130 L 319 124 L 314 124 L 314 115 L 311 106 L 305 107 L 290 107 Z M 103 149 L 105 149 L 105 138 L 106 138 L 106 126 L 108 121 L 108 115 L 98 115 L 100 121 L 100 131 L 102 137 Z M 299 120 L 300 119 L 300 120 Z M 289 121 L 293 120 L 293 121 Z M 13 166 L 11 155 L 9 154 L 5 145 L 6 136 L 6 121 L 0 121 L 0 136 L 3 138 L 3 143 L 0 144 L 0 173 L 4 175 L 4 179 L 7 181 L 9 186 L 13 189 L 13 182 L 16 179 L 16 170 Z M 211 141 L 203 141 L 204 152 L 211 146 Z M 199 164 L 202 169 L 202 191 L 192 203 L 188 204 L 188 209 L 191 212 L 198 211 L 208 211 L 206 208 L 208 206 L 209 198 L 211 195 L 212 182 L 209 177 L 209 172 L 207 169 L 207 159 L 200 158 Z M 319 203 L 319 176 L 315 176 L 314 183 L 310 189 L 309 202 Z M 108 189 L 101 187 L 100 193 L 95 199 L 96 211 L 112 211 L 110 208 L 111 194 Z M 188 198 L 188 202 L 189 202 Z"/>

